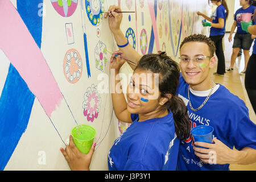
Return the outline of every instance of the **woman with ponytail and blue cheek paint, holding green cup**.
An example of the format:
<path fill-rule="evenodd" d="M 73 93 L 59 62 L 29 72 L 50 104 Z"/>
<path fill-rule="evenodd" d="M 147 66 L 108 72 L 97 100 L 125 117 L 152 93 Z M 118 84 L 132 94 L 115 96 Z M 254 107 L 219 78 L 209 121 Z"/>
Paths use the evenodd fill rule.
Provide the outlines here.
<path fill-rule="evenodd" d="M 115 115 L 130 127 L 115 141 L 108 154 L 110 171 L 176 170 L 180 139 L 189 135 L 188 109 L 176 95 L 179 65 L 164 52 L 144 55 L 127 87 L 127 102 L 119 69 L 125 60 L 112 56 L 110 75 Z M 70 137 L 60 149 L 72 170 L 89 170 L 94 146 L 82 154 Z"/>

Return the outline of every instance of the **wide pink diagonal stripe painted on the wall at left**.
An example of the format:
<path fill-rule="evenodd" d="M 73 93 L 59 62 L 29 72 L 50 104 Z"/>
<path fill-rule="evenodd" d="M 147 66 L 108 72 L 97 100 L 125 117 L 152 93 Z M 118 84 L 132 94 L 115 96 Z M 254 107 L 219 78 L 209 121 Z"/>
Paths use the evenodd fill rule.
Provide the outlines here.
<path fill-rule="evenodd" d="M 0 1 L 0 22 L 0 49 L 51 117 L 63 95 L 42 52 L 9 0 Z"/>

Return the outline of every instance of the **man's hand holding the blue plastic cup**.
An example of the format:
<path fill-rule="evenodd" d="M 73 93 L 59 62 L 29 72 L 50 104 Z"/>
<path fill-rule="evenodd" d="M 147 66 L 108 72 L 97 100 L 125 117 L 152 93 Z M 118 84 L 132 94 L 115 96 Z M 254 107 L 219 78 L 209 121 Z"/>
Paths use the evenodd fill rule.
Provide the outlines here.
<path fill-rule="evenodd" d="M 195 142 L 193 150 L 204 163 L 209 164 L 231 164 L 234 161 L 234 150 L 230 149 L 217 138 L 213 138 L 214 143 Z M 205 147 L 205 148 L 199 148 Z"/>

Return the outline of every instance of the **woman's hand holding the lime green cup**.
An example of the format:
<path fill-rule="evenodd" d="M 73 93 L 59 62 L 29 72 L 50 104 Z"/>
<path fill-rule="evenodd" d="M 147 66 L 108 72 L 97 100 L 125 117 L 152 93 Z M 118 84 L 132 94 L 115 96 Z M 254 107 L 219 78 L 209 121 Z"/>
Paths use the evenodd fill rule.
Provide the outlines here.
<path fill-rule="evenodd" d="M 96 143 L 92 145 L 88 154 L 82 154 L 79 149 L 75 146 L 73 138 L 69 136 L 69 144 L 65 148 L 60 148 L 60 151 L 64 155 L 68 162 L 68 166 L 72 171 L 89 171 L 90 162 L 92 160 L 92 155 L 95 149 Z"/>

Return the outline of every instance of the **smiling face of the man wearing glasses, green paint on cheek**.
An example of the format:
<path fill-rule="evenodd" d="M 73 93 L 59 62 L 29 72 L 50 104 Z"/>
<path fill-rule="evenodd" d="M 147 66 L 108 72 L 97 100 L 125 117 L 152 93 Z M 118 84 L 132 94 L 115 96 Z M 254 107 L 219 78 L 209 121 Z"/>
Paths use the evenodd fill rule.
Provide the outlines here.
<path fill-rule="evenodd" d="M 215 57 L 210 55 L 208 44 L 205 42 L 184 43 L 180 48 L 180 57 L 188 58 L 184 59 L 185 61 L 180 60 L 181 73 L 185 81 L 194 90 L 208 90 L 212 84 L 210 68 L 213 68 L 215 63 Z M 196 59 L 196 57 L 203 57 L 204 59 Z"/>

